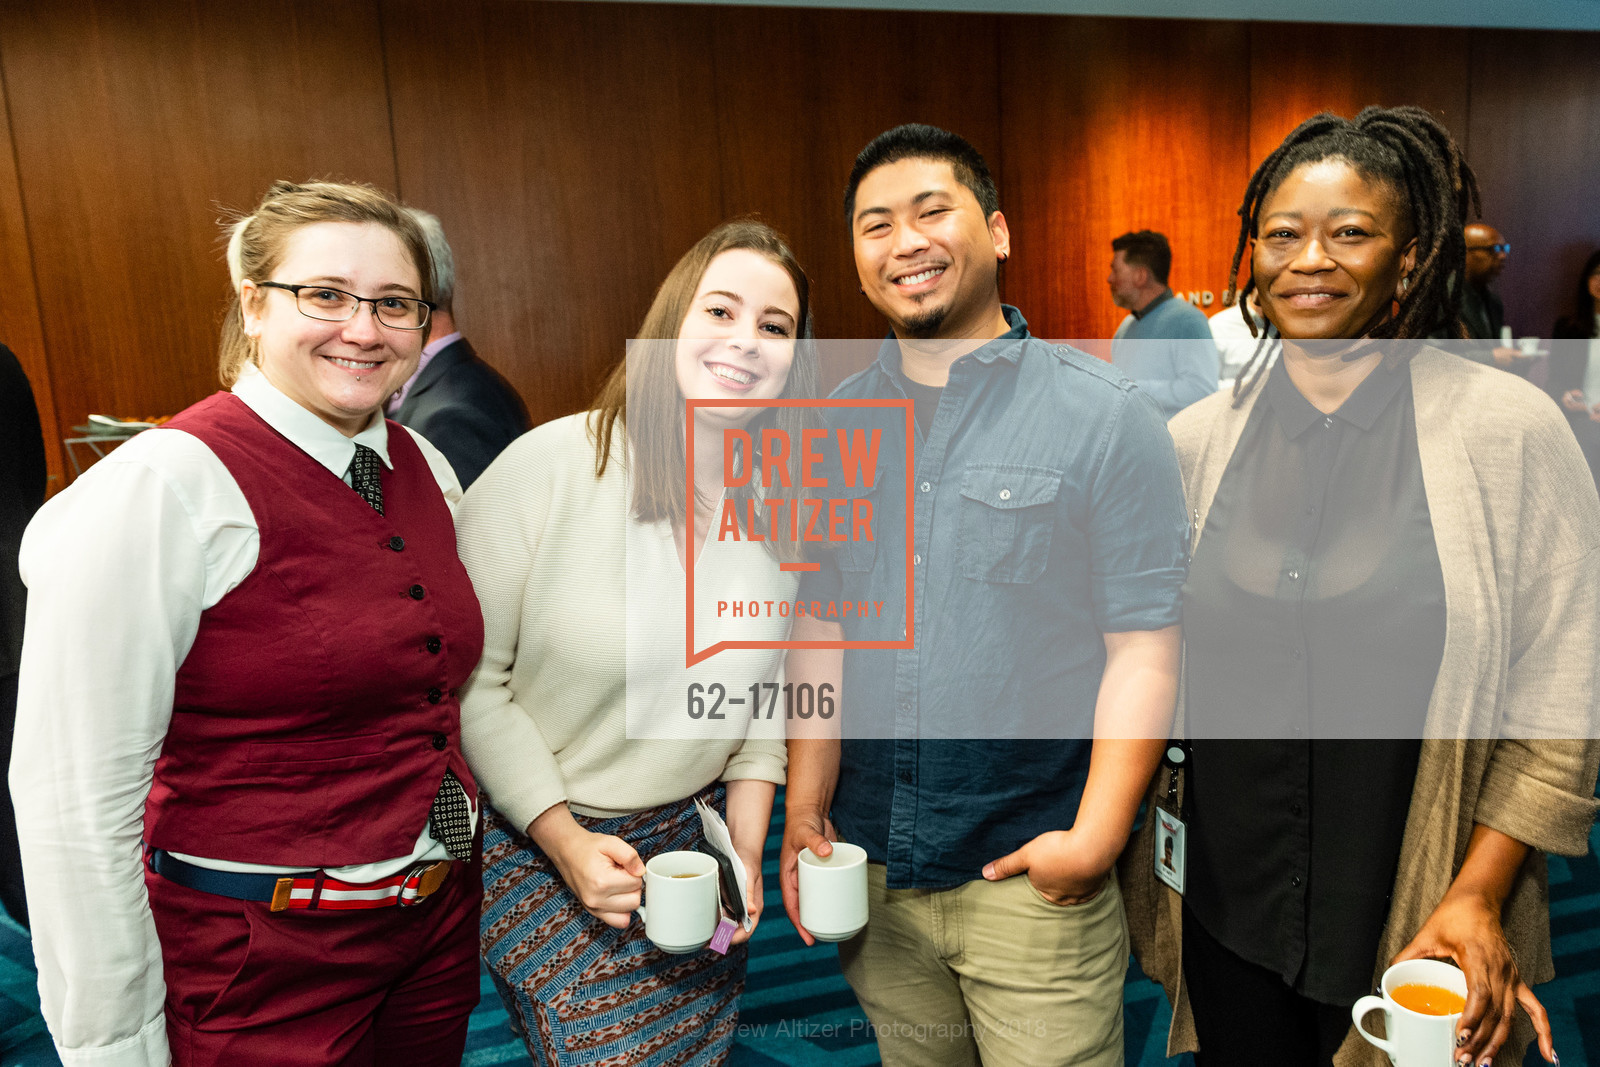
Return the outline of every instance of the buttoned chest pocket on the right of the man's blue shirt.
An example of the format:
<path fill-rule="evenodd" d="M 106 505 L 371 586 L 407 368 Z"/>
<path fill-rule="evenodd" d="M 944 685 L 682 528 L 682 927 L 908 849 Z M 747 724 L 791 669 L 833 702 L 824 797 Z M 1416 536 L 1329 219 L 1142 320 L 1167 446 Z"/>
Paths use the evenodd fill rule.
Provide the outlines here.
<path fill-rule="evenodd" d="M 971 466 L 962 474 L 955 555 L 962 577 L 1032 582 L 1045 573 L 1061 470 Z"/>

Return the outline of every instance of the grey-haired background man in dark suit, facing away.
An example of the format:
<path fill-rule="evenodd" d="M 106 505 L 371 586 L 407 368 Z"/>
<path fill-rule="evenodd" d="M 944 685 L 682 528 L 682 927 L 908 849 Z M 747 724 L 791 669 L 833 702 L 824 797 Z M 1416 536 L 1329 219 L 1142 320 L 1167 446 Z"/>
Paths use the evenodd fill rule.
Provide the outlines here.
<path fill-rule="evenodd" d="M 422 362 L 389 400 L 387 411 L 395 422 L 410 426 L 445 453 L 461 488 L 467 488 L 502 448 L 528 432 L 528 408 L 510 382 L 480 360 L 456 330 L 456 258 L 445 229 L 427 211 L 410 211 L 427 235 L 438 309 L 429 318 Z"/>

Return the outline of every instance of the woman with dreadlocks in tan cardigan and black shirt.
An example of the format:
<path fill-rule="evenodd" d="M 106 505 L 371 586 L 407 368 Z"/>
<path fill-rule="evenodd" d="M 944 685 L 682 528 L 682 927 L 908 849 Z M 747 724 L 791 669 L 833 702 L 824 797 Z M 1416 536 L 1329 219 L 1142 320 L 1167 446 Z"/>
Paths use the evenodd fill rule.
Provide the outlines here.
<path fill-rule="evenodd" d="M 1458 1062 L 1520 1062 L 1531 1030 L 1557 1062 L 1528 985 L 1542 854 L 1584 853 L 1597 808 L 1600 501 L 1549 398 L 1405 341 L 1454 328 L 1475 195 L 1422 110 L 1301 125 L 1234 261 L 1283 358 L 1171 422 L 1192 742 L 1154 800 L 1187 821 L 1186 894 L 1155 819 L 1123 877 L 1200 1067 L 1384 1062 L 1349 1005 L 1411 957 L 1467 974 Z"/>

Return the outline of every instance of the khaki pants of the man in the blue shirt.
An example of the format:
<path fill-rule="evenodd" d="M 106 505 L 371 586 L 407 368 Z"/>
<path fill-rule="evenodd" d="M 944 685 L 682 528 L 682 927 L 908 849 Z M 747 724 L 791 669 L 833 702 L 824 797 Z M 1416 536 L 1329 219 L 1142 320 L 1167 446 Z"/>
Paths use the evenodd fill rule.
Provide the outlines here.
<path fill-rule="evenodd" d="M 867 865 L 867 928 L 838 945 L 885 1067 L 1120 1067 L 1128 920 L 1112 872 L 1085 904 L 1026 875 L 888 889 Z"/>

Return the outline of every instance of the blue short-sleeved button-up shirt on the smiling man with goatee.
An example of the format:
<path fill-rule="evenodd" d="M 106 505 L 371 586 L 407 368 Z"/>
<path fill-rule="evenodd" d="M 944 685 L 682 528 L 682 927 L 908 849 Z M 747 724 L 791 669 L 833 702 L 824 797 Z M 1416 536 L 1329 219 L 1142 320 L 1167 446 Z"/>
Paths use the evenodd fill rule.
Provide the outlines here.
<path fill-rule="evenodd" d="M 800 598 L 846 613 L 845 741 L 832 817 L 888 865 L 891 888 L 944 888 L 1077 817 L 1106 632 L 1179 617 L 1187 520 L 1171 437 L 1115 368 L 1011 331 L 950 366 L 912 470 L 904 408 L 842 410 L 883 427 L 869 491 L 875 539 L 845 544 Z M 899 346 L 834 398 L 904 400 Z"/>

